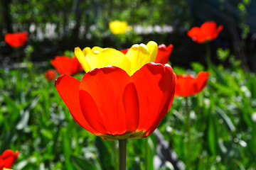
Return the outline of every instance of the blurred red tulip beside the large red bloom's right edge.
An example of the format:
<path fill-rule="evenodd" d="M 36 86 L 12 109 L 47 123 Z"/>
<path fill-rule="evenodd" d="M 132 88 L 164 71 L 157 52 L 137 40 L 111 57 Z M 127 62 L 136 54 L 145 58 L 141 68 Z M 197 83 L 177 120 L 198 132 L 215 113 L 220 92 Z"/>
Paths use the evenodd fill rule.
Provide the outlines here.
<path fill-rule="evenodd" d="M 191 96 L 198 94 L 206 87 L 208 72 L 199 72 L 197 77 L 192 75 L 177 75 L 175 96 Z"/>

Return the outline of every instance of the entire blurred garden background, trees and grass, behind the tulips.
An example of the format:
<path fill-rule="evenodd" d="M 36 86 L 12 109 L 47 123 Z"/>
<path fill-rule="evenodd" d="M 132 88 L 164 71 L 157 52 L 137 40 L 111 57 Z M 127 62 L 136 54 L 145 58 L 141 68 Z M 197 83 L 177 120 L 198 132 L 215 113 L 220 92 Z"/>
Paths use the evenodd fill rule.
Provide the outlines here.
<path fill-rule="evenodd" d="M 109 23 L 132 30 L 114 35 Z M 187 32 L 206 21 L 223 25 L 206 44 Z M 22 47 L 6 33 L 28 32 Z M 0 154 L 18 150 L 12 169 L 118 169 L 117 142 L 102 140 L 73 120 L 55 89 L 56 55 L 75 47 L 122 50 L 154 40 L 174 45 L 169 63 L 176 74 L 208 71 L 208 84 L 186 102 L 175 97 L 158 130 L 128 140 L 127 169 L 256 169 L 256 0 L 0 0 Z M 61 63 L 60 63 L 61 65 Z M 73 75 L 81 80 L 84 72 Z M 191 150 L 186 121 L 191 123 Z M 148 148 L 145 151 L 145 148 Z"/>

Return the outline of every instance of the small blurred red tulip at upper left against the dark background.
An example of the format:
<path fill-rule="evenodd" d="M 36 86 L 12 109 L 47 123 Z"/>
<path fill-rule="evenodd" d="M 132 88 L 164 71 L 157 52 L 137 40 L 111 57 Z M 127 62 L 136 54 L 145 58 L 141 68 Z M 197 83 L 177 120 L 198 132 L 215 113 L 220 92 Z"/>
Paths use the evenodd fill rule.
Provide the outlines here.
<path fill-rule="evenodd" d="M 22 33 L 7 33 L 4 37 L 4 40 L 7 44 L 9 44 L 11 47 L 21 47 L 26 43 L 26 40 L 28 39 L 28 33 L 22 32 Z"/>

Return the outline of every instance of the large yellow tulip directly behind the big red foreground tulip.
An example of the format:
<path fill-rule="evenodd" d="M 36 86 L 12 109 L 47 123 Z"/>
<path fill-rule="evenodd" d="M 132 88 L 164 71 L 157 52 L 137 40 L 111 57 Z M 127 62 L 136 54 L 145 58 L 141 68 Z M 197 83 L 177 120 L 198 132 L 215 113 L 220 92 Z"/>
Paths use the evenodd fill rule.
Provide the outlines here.
<path fill-rule="evenodd" d="M 154 62 L 156 54 L 157 44 L 154 41 L 150 41 L 146 45 L 132 45 L 125 55 L 113 48 L 92 47 L 90 49 L 90 47 L 85 47 L 83 50 L 80 47 L 75 48 L 75 56 L 85 72 L 112 65 L 124 69 L 130 76 L 144 64 Z"/>

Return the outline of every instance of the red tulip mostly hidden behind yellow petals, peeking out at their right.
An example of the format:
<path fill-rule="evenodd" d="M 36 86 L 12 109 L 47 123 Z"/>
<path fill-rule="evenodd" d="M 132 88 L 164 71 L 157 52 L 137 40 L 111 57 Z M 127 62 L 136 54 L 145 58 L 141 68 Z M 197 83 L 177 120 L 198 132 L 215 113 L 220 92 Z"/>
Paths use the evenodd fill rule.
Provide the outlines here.
<path fill-rule="evenodd" d="M 161 63 L 161 64 L 167 64 L 169 62 L 169 55 L 171 54 L 171 51 L 173 50 L 174 45 L 169 45 L 166 47 L 166 45 L 162 44 L 159 45 L 156 59 L 154 60 L 155 63 Z M 127 53 L 129 48 L 120 50 L 120 52 L 124 53 L 124 55 Z"/>

